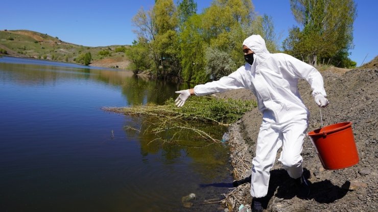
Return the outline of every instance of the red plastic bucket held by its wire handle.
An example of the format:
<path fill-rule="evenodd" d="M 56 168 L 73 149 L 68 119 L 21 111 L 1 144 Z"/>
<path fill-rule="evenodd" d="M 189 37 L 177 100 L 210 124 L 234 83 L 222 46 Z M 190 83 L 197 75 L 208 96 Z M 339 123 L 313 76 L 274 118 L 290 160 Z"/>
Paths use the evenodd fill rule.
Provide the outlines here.
<path fill-rule="evenodd" d="M 343 169 L 359 162 L 351 122 L 324 126 L 307 135 L 314 144 L 324 169 Z"/>

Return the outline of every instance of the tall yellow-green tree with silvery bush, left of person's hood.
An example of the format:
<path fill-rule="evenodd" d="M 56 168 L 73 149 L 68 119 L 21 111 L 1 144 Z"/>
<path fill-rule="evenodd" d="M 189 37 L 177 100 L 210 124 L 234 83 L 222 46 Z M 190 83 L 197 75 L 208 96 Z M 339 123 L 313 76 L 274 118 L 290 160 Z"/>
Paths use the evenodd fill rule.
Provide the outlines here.
<path fill-rule="evenodd" d="M 242 43 L 251 33 L 253 8 L 247 0 L 216 0 L 204 11 L 206 80 L 218 80 L 244 64 Z"/>

